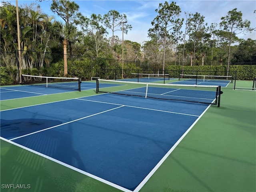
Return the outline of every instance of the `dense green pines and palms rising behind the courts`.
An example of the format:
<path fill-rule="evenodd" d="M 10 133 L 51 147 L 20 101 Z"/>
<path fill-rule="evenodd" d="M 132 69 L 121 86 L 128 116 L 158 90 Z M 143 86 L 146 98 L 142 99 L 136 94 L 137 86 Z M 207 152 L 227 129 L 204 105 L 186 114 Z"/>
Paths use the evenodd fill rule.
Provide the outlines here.
<path fill-rule="evenodd" d="M 185 69 L 199 65 L 226 71 L 230 65 L 229 71 L 232 71 L 234 65 L 256 64 L 256 40 L 236 37 L 238 31 L 252 31 L 250 22 L 243 21 L 242 13 L 237 9 L 221 18 L 220 30 L 217 30 L 218 24 L 208 27 L 200 13 L 180 18 L 182 10 L 175 2 L 160 3 L 156 10 L 158 16 L 149 29 L 150 40 L 143 45 L 124 40 L 123 46 L 122 39 L 114 32 L 132 30 L 125 14 L 110 10 L 103 16 L 92 14 L 87 18 L 70 0 L 52 0 L 51 10 L 62 18 L 63 23 L 44 14 L 40 2 L 18 7 L 19 51 L 16 6 L 1 2 L 1 84 L 18 82 L 20 67 L 22 74 L 79 76 L 85 80 L 94 76 L 96 70 L 121 69 L 122 64 L 124 69 L 153 71 L 162 70 L 163 66 L 169 70 L 172 66 Z M 165 27 L 167 25 L 170 27 Z M 180 30 L 182 25 L 186 27 L 185 32 Z M 112 31 L 109 39 L 107 30 Z M 245 68 L 235 69 L 246 71 Z"/>

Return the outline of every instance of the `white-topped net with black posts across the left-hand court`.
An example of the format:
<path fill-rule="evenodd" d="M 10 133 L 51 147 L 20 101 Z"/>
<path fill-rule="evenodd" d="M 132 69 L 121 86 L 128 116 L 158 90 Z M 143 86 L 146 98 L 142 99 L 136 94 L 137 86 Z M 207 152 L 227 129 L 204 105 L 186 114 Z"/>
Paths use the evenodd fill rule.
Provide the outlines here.
<path fill-rule="evenodd" d="M 81 91 L 80 78 L 48 77 L 22 74 L 22 84 Z"/>

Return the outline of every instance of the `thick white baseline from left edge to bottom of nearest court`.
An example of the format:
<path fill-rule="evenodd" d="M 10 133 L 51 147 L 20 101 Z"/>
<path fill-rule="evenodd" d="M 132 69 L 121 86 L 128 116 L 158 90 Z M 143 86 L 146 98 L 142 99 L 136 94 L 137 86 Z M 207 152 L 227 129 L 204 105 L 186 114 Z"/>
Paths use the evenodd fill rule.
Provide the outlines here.
<path fill-rule="evenodd" d="M 119 186 L 119 185 L 117 185 L 117 184 L 114 184 L 114 183 L 109 182 L 109 181 L 107 181 L 107 180 L 104 180 L 104 179 L 102 179 L 102 178 L 100 178 L 100 177 L 97 177 L 97 176 L 95 176 L 95 175 L 93 175 L 93 174 L 90 174 L 90 173 L 88 173 L 88 172 L 85 172 L 85 171 L 83 171 L 83 170 L 80 170 L 80 169 L 78 169 L 78 168 L 76 168 L 76 167 L 73 167 L 73 166 L 71 166 L 71 165 L 69 165 L 69 164 L 66 164 L 66 163 L 64 163 L 64 162 L 62 162 L 62 161 L 56 160 L 56 159 L 54 159 L 54 158 L 52 158 L 52 157 L 50 157 L 50 156 L 47 156 L 47 155 L 45 155 L 45 154 L 42 154 L 42 153 L 40 153 L 40 152 L 37 152 L 37 151 L 35 151 L 35 150 L 32 150 L 32 149 L 27 148 L 27 147 L 25 147 L 25 146 L 22 146 L 22 145 L 20 145 L 20 144 L 18 144 L 18 143 L 12 142 L 12 141 L 7 140 L 7 139 L 2 138 L 2 137 L 0 137 L 0 139 L 4 140 L 4 141 L 6 141 L 6 142 L 8 142 L 8 143 L 10 143 L 10 144 L 13 144 L 13 145 L 15 145 L 15 146 L 18 146 L 18 147 L 20 147 L 20 148 L 22 148 L 22 149 L 24 149 L 24 150 L 27 150 L 27 151 L 29 151 L 29 152 L 32 152 L 32 153 L 37 154 L 37 155 L 39 155 L 39 156 L 42 156 L 42 157 L 44 157 L 44 158 L 46 158 L 46 159 L 48 159 L 48 160 L 51 160 L 51 161 L 56 162 L 56 163 L 58 163 L 58 164 L 61 164 L 61 165 L 65 166 L 65 167 L 67 167 L 67 168 L 70 168 L 70 169 L 74 170 L 74 171 L 77 171 L 77 172 L 79 172 L 79 173 L 82 173 L 82 174 L 84 174 L 84 175 L 86 175 L 86 176 L 88 176 L 88 177 L 94 178 L 94 179 L 96 179 L 96 180 L 98 180 L 98 181 L 100 181 L 100 182 L 103 182 L 103 183 L 105 183 L 105 184 L 108 184 L 108 185 L 110 185 L 110 186 L 112 186 L 112 187 L 114 187 L 114 188 L 117 188 L 117 189 L 122 190 L 122 191 L 124 191 L 124 192 L 132 192 L 131 190 L 128 190 L 128 189 L 123 188 L 123 187 L 121 187 L 121 186 Z"/>

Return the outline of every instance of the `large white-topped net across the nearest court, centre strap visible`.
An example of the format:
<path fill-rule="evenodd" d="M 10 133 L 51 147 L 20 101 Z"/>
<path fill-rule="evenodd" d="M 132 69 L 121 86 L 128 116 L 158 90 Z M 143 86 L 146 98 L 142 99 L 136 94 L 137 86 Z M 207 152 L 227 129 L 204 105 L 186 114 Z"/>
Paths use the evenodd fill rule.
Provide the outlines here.
<path fill-rule="evenodd" d="M 214 104 L 219 107 L 221 86 L 157 84 L 97 79 L 96 92 L 199 102 Z"/>

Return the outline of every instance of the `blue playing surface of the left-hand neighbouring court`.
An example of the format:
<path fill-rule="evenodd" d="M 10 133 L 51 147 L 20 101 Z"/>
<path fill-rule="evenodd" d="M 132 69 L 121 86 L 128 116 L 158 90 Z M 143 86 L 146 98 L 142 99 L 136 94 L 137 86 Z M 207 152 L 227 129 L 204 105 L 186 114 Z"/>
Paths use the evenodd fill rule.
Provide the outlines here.
<path fill-rule="evenodd" d="M 57 94 L 64 92 L 77 91 L 70 89 L 73 87 L 78 88 L 78 84 L 71 83 L 61 83 L 64 88 L 51 88 L 46 86 L 33 86 L 33 85 L 20 85 L 20 86 L 2 86 L 0 87 L 0 100 L 16 99 L 16 98 L 25 98 L 33 96 L 41 96 L 48 94 Z M 66 89 L 65 89 L 66 87 Z M 82 82 L 81 90 L 94 89 L 96 87 L 93 82 Z"/>

